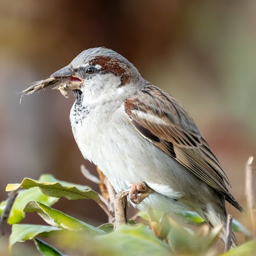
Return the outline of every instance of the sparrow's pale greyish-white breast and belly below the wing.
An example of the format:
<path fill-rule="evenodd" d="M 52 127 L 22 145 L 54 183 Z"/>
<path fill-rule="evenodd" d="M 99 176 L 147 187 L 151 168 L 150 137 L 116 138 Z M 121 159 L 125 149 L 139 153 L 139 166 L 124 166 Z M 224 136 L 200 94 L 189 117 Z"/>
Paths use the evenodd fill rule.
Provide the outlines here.
<path fill-rule="evenodd" d="M 140 208 L 162 202 L 171 211 L 180 211 L 180 203 L 173 200 L 183 195 L 176 178 L 186 176 L 187 170 L 143 138 L 121 108 L 107 117 L 90 112 L 78 123 L 71 116 L 71 125 L 83 157 L 102 170 L 117 192 L 129 189 L 129 183 L 145 182 L 161 195 L 148 196 Z"/>

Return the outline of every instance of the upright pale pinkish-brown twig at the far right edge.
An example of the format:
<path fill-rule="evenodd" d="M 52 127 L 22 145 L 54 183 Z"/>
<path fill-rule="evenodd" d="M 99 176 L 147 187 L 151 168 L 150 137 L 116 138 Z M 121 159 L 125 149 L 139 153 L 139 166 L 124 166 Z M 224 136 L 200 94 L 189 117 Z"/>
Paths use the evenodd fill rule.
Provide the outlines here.
<path fill-rule="evenodd" d="M 256 209 L 254 205 L 254 193 L 253 193 L 253 166 L 252 166 L 253 157 L 250 156 L 246 162 L 245 166 L 245 195 L 247 200 L 247 207 L 250 212 L 253 237 L 256 237 Z"/>

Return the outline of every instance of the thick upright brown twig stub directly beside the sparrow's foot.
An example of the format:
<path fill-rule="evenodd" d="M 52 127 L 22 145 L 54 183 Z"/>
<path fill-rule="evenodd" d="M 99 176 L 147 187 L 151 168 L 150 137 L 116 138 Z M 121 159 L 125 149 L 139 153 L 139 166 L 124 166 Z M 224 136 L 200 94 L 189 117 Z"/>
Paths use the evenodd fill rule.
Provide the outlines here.
<path fill-rule="evenodd" d="M 127 206 L 127 199 L 126 196 L 130 190 L 121 191 L 115 197 L 115 228 L 125 224 L 127 222 L 126 217 L 126 206 Z"/>

